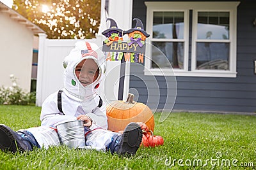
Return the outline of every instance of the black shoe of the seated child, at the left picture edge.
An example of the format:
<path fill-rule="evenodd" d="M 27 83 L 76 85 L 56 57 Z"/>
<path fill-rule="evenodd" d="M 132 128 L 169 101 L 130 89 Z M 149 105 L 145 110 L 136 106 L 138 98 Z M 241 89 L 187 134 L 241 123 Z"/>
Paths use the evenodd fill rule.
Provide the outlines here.
<path fill-rule="evenodd" d="M 33 147 L 10 127 L 0 124 L 0 149 L 15 153 L 17 150 L 32 150 Z"/>

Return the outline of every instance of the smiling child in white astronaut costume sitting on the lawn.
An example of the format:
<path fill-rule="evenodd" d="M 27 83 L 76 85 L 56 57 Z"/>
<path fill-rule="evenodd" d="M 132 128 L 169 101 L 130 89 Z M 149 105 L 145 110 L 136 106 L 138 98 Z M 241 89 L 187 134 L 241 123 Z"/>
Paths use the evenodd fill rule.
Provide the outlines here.
<path fill-rule="evenodd" d="M 97 51 L 98 50 L 98 51 Z M 134 155 L 140 147 L 142 132 L 138 124 L 127 125 L 123 134 L 108 129 L 106 104 L 97 95 L 104 76 L 104 59 L 97 45 L 78 41 L 65 58 L 64 89 L 45 99 L 40 120 L 42 126 L 18 132 L 0 125 L 0 148 L 16 152 L 33 147 L 60 145 L 55 126 L 64 120 L 83 120 L 86 146 L 111 153 Z"/>

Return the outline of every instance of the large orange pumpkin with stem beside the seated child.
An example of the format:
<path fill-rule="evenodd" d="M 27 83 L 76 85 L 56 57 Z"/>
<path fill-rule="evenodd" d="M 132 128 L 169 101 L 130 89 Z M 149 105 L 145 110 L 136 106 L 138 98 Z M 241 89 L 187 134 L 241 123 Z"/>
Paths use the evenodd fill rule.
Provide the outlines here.
<path fill-rule="evenodd" d="M 130 122 L 143 122 L 154 131 L 154 115 L 143 103 L 133 101 L 134 95 L 128 94 L 127 101 L 113 101 L 107 106 L 109 131 L 124 131 Z"/>

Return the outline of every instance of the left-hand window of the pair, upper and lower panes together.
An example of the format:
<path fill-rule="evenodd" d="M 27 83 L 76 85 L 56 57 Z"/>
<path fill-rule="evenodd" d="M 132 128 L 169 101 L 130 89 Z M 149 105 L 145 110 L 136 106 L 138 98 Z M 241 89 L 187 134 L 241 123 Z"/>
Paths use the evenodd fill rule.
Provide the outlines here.
<path fill-rule="evenodd" d="M 153 17 L 152 45 L 157 46 L 166 55 L 172 67 L 183 69 L 184 12 L 154 11 Z M 152 68 L 166 66 L 166 62 L 154 55 L 157 53 L 154 49 L 152 49 Z"/>

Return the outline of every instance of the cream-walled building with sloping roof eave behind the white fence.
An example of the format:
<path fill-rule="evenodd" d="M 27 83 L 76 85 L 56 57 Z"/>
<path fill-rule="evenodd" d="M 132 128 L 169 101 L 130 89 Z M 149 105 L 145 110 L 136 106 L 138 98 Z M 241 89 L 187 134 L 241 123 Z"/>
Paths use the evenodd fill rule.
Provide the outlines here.
<path fill-rule="evenodd" d="M 33 38 L 44 31 L 1 2 L 0 24 L 0 85 L 11 86 L 13 74 L 20 87 L 30 92 Z"/>

